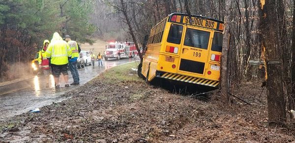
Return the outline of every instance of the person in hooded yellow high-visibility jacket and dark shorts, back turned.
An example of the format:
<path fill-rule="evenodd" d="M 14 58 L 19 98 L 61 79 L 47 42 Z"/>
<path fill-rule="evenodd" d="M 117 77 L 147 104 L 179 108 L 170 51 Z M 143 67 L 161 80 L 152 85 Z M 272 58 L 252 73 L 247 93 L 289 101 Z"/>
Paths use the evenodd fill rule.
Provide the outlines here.
<path fill-rule="evenodd" d="M 68 76 L 68 59 L 72 56 L 72 50 L 69 45 L 62 40 L 58 32 L 53 34 L 52 40 L 46 50 L 47 58 L 51 58 L 51 66 L 53 67 L 53 75 L 55 87 L 59 88 L 59 75 L 63 74 L 65 87 L 69 87 Z"/>

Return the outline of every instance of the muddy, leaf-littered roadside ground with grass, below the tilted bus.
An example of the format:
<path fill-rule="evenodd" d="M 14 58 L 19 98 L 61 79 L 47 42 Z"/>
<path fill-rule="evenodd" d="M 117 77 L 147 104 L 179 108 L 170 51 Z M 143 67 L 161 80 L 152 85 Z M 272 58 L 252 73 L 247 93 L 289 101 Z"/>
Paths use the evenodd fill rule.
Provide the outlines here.
<path fill-rule="evenodd" d="M 266 91 L 245 82 L 232 106 L 150 86 L 130 69 L 112 68 L 72 98 L 0 122 L 0 142 L 285 143 L 286 128 L 267 127 Z M 238 88 L 237 88 L 238 89 Z"/>

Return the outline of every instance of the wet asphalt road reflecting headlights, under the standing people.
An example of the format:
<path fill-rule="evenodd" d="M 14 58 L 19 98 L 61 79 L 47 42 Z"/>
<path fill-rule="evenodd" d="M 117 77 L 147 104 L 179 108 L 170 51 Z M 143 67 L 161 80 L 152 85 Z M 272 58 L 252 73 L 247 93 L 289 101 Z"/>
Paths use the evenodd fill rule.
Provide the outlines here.
<path fill-rule="evenodd" d="M 98 62 L 95 62 L 94 67 L 87 66 L 85 68 L 79 69 L 80 75 L 80 85 L 83 86 L 89 80 L 105 71 L 106 69 L 115 67 L 120 64 L 132 62 L 138 60 L 138 56 L 135 58 L 126 58 L 117 61 L 109 60 L 103 61 L 104 66 L 98 67 Z M 69 83 L 73 82 L 72 75 L 69 73 Z M 0 86 L 0 120 L 5 120 L 11 118 L 15 115 L 19 115 L 29 110 L 39 108 L 45 105 L 49 105 L 52 102 L 60 102 L 66 99 L 61 96 L 65 92 L 71 91 L 77 86 L 70 86 L 64 88 L 64 82 L 62 76 L 60 76 L 60 89 L 56 90 L 54 88 L 53 76 L 50 76 L 49 87 L 45 87 L 46 81 L 44 75 L 35 75 L 32 77 L 27 77 L 24 80 L 9 83 Z"/>

